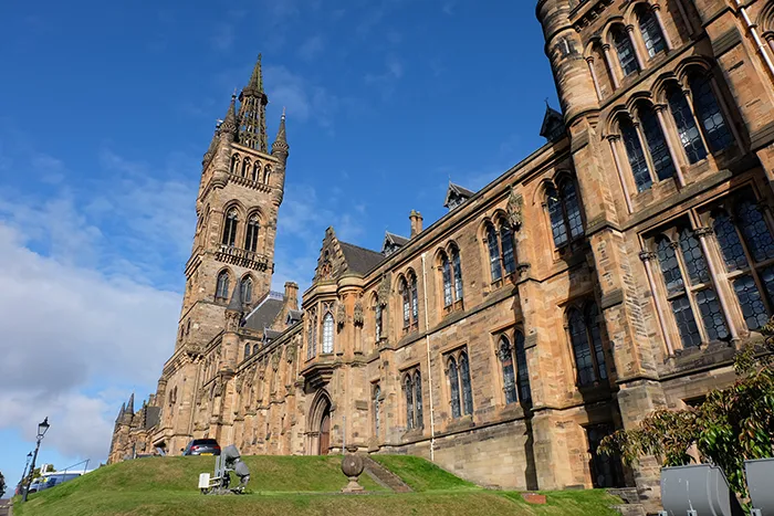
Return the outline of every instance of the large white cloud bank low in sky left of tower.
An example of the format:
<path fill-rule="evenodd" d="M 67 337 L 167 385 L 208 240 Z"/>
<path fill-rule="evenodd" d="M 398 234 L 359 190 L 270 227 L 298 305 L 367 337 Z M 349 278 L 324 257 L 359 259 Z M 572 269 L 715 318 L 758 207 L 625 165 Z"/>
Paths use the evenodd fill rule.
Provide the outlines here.
<path fill-rule="evenodd" d="M 101 386 L 154 389 L 179 295 L 38 254 L 2 222 L 0 292 L 0 428 L 29 439 L 49 415 L 60 453 L 103 459 L 121 398 Z"/>

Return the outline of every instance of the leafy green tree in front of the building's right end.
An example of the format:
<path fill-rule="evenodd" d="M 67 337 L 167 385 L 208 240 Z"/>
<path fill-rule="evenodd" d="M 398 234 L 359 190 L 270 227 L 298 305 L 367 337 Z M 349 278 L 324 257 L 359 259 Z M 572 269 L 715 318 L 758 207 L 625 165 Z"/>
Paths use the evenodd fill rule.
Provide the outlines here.
<path fill-rule="evenodd" d="M 762 346 L 746 345 L 736 354 L 733 386 L 710 391 L 697 408 L 657 410 L 639 428 L 605 438 L 599 451 L 627 464 L 653 455 L 663 466 L 680 466 L 693 461 L 689 450 L 695 445 L 746 497 L 744 461 L 774 456 L 774 318 L 762 333 Z"/>

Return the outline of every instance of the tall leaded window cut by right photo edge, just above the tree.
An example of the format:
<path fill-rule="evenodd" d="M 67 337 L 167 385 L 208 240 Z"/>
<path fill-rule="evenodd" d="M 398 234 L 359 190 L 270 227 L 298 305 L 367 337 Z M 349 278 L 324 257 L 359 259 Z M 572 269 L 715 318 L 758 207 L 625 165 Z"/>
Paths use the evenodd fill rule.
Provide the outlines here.
<path fill-rule="evenodd" d="M 740 198 L 744 200 L 735 207 L 733 219 L 725 210 L 715 212 L 712 227 L 725 268 L 733 273 L 732 285 L 744 322 L 749 329 L 757 330 L 774 313 L 774 265 L 768 263 L 774 238 L 759 207 L 745 199 L 752 196 L 749 190 L 742 192 Z"/>

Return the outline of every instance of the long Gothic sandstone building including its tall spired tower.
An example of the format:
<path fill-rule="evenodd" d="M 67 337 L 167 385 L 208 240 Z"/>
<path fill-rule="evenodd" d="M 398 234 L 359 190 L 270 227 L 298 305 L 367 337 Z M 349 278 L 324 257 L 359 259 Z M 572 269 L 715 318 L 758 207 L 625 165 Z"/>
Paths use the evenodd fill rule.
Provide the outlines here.
<path fill-rule="evenodd" d="M 599 441 L 733 380 L 774 312 L 774 1 L 538 0 L 547 143 L 380 251 L 270 292 L 289 145 L 260 61 L 205 155 L 175 352 L 111 456 L 411 453 L 510 488 L 636 486 Z M 292 180 L 292 167 L 289 169 Z M 440 200 L 439 200 L 440 201 Z M 301 306 L 299 306 L 299 303 Z"/>

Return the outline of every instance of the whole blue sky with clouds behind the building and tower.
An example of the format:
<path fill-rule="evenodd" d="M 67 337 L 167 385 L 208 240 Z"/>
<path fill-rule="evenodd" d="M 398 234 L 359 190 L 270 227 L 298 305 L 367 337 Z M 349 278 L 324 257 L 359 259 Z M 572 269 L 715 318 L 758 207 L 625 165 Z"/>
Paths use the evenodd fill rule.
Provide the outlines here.
<path fill-rule="evenodd" d="M 4 2 L 0 471 L 104 460 L 174 347 L 201 155 L 263 53 L 291 156 L 274 287 L 327 225 L 379 249 L 543 144 L 555 87 L 534 2 Z"/>

